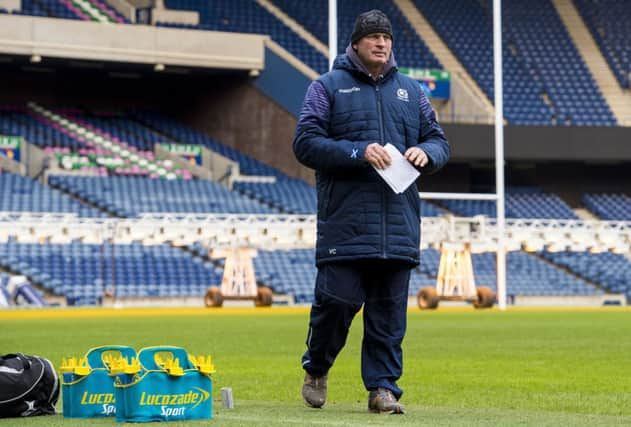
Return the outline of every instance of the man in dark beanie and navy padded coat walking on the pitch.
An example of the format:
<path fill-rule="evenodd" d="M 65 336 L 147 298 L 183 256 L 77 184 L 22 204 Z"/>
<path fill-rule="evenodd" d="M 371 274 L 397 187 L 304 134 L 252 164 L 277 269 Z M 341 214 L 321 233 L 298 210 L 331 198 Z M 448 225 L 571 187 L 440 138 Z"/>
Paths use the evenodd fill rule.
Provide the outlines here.
<path fill-rule="evenodd" d="M 363 305 L 368 409 L 404 412 L 397 380 L 420 203 L 415 185 L 395 194 L 375 168 L 391 163 L 386 143 L 422 174 L 440 169 L 450 150 L 420 85 L 397 72 L 392 43 L 383 12 L 359 15 L 346 53 L 309 87 L 296 129 L 294 153 L 315 169 L 318 194 L 318 275 L 302 357 L 302 396 L 313 408 L 326 401 L 328 371 Z"/>

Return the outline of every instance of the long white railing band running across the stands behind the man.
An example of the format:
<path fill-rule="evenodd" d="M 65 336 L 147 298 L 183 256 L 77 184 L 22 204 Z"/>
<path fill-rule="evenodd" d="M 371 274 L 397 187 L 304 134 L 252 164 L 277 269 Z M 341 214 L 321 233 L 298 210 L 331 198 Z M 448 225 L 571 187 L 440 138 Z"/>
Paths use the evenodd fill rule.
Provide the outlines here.
<path fill-rule="evenodd" d="M 315 215 L 143 214 L 139 218 L 85 218 L 74 214 L 0 212 L 0 239 L 45 242 L 58 235 L 90 242 L 146 241 L 212 247 L 313 248 Z M 497 247 L 497 223 L 485 216 L 422 219 L 421 248 L 469 243 L 474 253 Z M 70 239 L 69 239 L 70 240 Z M 507 250 L 629 253 L 631 221 L 507 219 Z"/>

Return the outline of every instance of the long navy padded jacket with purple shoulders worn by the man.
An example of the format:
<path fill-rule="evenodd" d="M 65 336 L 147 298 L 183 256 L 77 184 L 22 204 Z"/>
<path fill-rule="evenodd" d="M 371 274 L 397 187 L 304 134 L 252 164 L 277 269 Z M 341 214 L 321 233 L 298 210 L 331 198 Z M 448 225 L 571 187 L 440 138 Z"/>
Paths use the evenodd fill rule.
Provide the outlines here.
<path fill-rule="evenodd" d="M 415 185 L 395 194 L 365 160 L 366 147 L 418 146 L 429 158 L 422 174 L 449 159 L 449 144 L 418 82 L 398 73 L 394 55 L 373 80 L 349 47 L 333 70 L 309 87 L 293 149 L 315 169 L 318 195 L 316 264 L 356 259 L 419 263 L 420 202 Z"/>

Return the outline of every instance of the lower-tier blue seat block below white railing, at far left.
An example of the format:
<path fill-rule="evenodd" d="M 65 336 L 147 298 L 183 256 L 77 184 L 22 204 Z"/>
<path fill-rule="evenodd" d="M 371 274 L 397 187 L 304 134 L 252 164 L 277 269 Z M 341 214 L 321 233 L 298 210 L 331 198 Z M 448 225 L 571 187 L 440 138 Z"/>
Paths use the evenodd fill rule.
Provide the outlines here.
<path fill-rule="evenodd" d="M 0 244 L 0 267 L 28 276 L 69 305 L 117 297 L 203 297 L 221 283 L 210 262 L 169 245 Z"/>

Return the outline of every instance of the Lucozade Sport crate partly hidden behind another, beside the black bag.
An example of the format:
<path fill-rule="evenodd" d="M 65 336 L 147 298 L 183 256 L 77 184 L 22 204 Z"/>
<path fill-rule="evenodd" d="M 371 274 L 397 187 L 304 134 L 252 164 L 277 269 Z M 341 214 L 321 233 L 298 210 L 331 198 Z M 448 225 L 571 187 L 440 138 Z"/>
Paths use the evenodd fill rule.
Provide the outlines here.
<path fill-rule="evenodd" d="M 131 347 L 106 345 L 88 350 L 79 359 L 63 359 L 60 370 L 64 417 L 113 417 L 116 399 L 109 365 L 115 358 L 135 357 L 136 350 Z"/>

